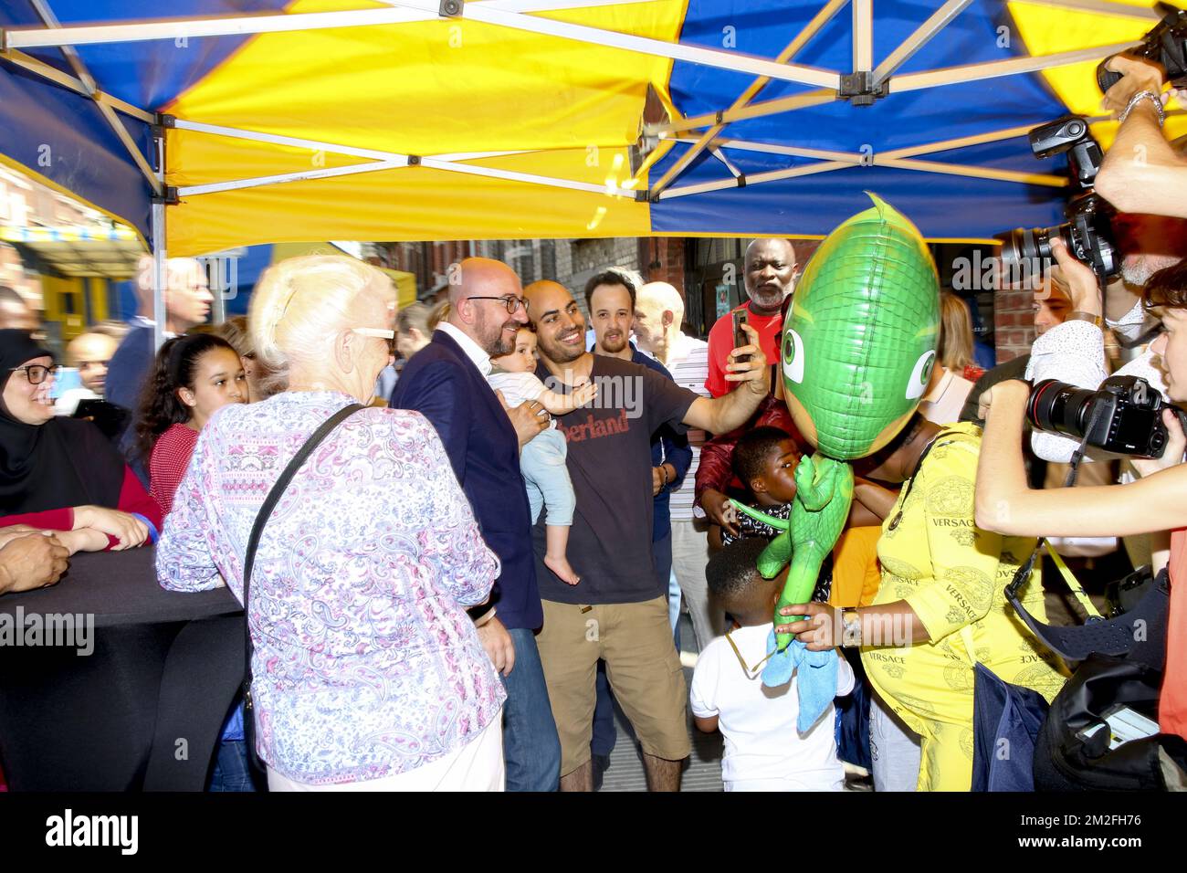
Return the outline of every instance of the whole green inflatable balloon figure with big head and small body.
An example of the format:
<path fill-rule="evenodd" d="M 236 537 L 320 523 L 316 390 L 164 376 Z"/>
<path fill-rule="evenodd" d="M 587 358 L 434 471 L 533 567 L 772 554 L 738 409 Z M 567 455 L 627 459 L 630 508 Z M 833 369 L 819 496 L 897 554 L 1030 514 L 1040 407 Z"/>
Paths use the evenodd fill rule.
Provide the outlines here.
<path fill-rule="evenodd" d="M 787 521 L 738 502 L 740 512 L 781 530 L 758 571 L 774 578 L 792 562 L 775 606 L 812 597 L 820 565 L 849 518 L 853 470 L 846 463 L 889 443 L 914 413 L 935 363 L 939 279 L 923 238 L 875 195 L 874 205 L 836 228 L 812 257 L 783 324 L 787 409 L 817 449 L 795 470 Z M 791 634 L 780 634 L 782 651 Z"/>

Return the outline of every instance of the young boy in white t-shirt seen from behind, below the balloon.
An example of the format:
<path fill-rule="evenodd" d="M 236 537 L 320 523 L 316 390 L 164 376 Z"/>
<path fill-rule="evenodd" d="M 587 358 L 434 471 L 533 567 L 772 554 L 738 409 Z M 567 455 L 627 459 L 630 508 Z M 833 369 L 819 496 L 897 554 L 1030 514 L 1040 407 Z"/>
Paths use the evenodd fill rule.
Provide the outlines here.
<path fill-rule="evenodd" d="M 690 703 L 697 727 L 725 738 L 722 779 L 726 791 L 840 791 L 845 771 L 837 758 L 832 704 L 799 733 L 799 672 L 779 688 L 762 684 L 775 602 L 787 580 L 758 575 L 764 539 L 741 539 L 705 568 L 710 596 L 734 619 L 732 630 L 700 653 Z M 853 690 L 853 671 L 839 658 L 837 695 Z"/>

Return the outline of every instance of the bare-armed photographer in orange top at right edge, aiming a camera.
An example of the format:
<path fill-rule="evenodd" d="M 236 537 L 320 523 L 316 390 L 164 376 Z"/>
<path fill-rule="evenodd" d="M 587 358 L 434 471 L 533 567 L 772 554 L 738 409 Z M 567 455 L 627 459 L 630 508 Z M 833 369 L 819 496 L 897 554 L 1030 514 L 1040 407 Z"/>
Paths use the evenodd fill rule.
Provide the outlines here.
<path fill-rule="evenodd" d="M 1187 401 L 1187 267 L 1180 264 L 1151 277 L 1144 303 L 1166 328 L 1151 350 L 1166 367 L 1167 393 L 1175 403 Z M 1032 391 L 1026 382 L 1011 380 L 985 392 L 980 398 L 986 424 L 977 468 L 976 520 L 978 527 L 1005 536 L 1104 537 L 1172 531 L 1170 616 L 1159 725 L 1163 733 L 1187 738 L 1187 501 L 1182 499 L 1187 466 L 1181 463 L 1187 436 L 1173 410 L 1163 409 L 1160 398 L 1145 397 L 1144 382 L 1131 381 L 1128 386 L 1093 393 L 1040 384 Z M 1056 404 L 1045 399 L 1054 394 L 1060 396 Z M 1099 413 L 1094 409 L 1098 405 Z M 1041 407 L 1037 413 L 1036 407 Z M 1047 419 L 1064 426 L 1065 432 L 1074 432 L 1074 426 L 1067 425 L 1084 424 L 1085 412 L 1090 439 L 1100 444 L 1124 437 L 1121 442 L 1141 445 L 1141 451 L 1131 454 L 1148 456 L 1132 462 L 1142 477 L 1125 485 L 1074 491 L 1029 488 L 1021 450 L 1023 417 L 1029 413 L 1032 422 Z M 1105 417 L 1118 425 L 1126 417 L 1130 422 L 1141 419 L 1145 434 L 1136 432 L 1141 426 L 1110 424 L 1105 429 L 1109 438 L 1102 439 L 1093 431 Z M 1161 455 L 1151 457 L 1159 454 L 1160 442 Z"/>

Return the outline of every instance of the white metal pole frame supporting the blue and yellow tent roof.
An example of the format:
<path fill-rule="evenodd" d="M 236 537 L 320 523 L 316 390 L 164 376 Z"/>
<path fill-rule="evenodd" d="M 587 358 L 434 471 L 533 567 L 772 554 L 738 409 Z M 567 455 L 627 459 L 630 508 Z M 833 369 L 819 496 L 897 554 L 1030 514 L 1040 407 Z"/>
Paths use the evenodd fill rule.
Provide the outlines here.
<path fill-rule="evenodd" d="M 387 8 L 379 10 L 297 14 L 245 14 L 218 19 L 164 19 L 154 21 L 128 21 L 122 24 L 62 26 L 55 17 L 49 0 L 32 0 L 33 7 L 37 10 L 44 23 L 44 27 L 0 30 L 0 58 L 17 64 L 44 78 L 53 81 L 59 86 L 70 88 L 78 94 L 90 97 L 102 113 L 103 118 L 107 120 L 108 125 L 128 150 L 132 159 L 140 167 L 147 184 L 152 188 L 154 192 L 151 221 L 154 262 L 154 316 L 157 322 L 157 344 L 159 346 L 163 341 L 161 331 L 165 322 L 163 303 L 163 289 L 166 280 L 165 207 L 170 202 L 176 202 L 178 197 L 195 197 L 216 191 L 299 183 L 307 179 L 375 172 L 380 170 L 392 170 L 418 165 L 458 173 L 525 182 L 542 186 L 566 188 L 589 192 L 602 192 L 614 197 L 629 197 L 631 200 L 650 201 L 665 200 L 669 197 L 685 197 L 704 191 L 722 190 L 740 185 L 762 184 L 766 182 L 793 178 L 796 176 L 830 172 L 832 170 L 839 170 L 862 163 L 872 163 L 878 166 L 913 170 L 919 172 L 973 176 L 977 178 L 1032 185 L 1050 185 L 1058 188 L 1067 184 L 1067 181 L 1064 177 L 916 159 L 918 156 L 934 154 L 938 152 L 1018 137 L 1033 125 L 1011 127 L 975 137 L 921 144 L 882 154 L 861 154 L 813 148 L 796 148 L 773 144 L 722 139 L 721 134 L 728 124 L 741 119 L 793 112 L 799 108 L 818 106 L 821 103 L 833 102 L 836 100 L 851 100 L 852 102 L 861 105 L 872 102 L 875 99 L 893 93 L 938 88 L 946 84 L 972 82 L 997 76 L 1037 72 L 1040 70 L 1053 69 L 1084 61 L 1096 61 L 1122 51 L 1131 45 L 1131 43 L 1113 43 L 1054 55 L 1018 57 L 1007 61 L 967 64 L 963 67 L 927 70 L 922 72 L 899 74 L 897 70 L 902 67 L 902 64 L 918 52 L 928 40 L 934 39 L 937 34 L 942 32 L 944 27 L 953 21 L 959 13 L 972 2 L 972 0 L 945 0 L 940 8 L 938 8 L 877 65 L 874 63 L 872 50 L 872 0 L 826 0 L 817 15 L 808 21 L 800 33 L 798 33 L 775 58 L 755 57 L 723 49 L 706 49 L 696 45 L 666 43 L 658 39 L 557 21 L 534 15 L 534 13 L 540 12 L 557 12 L 595 6 L 612 6 L 639 1 L 640 0 L 481 0 L 478 2 L 465 2 L 464 0 L 383 0 L 383 2 L 387 4 Z M 1028 0 L 1028 2 L 1041 6 L 1068 8 L 1081 12 L 1107 13 L 1130 18 L 1159 18 L 1157 13 L 1153 8 L 1129 6 L 1125 4 L 1113 2 L 1112 0 Z M 852 14 L 853 69 L 843 74 L 836 70 L 823 70 L 814 67 L 805 67 L 792 63 L 795 55 L 805 45 L 807 45 L 826 24 L 840 13 L 846 5 L 851 7 Z M 659 141 L 659 148 L 655 152 L 655 157 L 660 156 L 659 150 L 665 147 L 672 148 L 677 143 L 687 143 L 691 147 L 687 148 L 679 160 L 677 160 L 660 179 L 658 179 L 649 188 L 642 189 L 640 188 L 637 178 L 629 178 L 621 184 L 615 181 L 610 181 L 605 185 L 597 185 L 588 182 L 514 172 L 470 163 L 481 158 L 496 156 L 534 153 L 531 150 L 522 152 L 469 152 L 430 156 L 401 154 L 373 148 L 356 148 L 339 143 L 324 143 L 318 140 L 269 134 L 260 131 L 246 131 L 188 121 L 185 119 L 174 119 L 147 112 L 140 107 L 132 106 L 125 101 L 104 94 L 100 83 L 97 83 L 87 71 L 85 65 L 75 50 L 75 46 L 78 45 L 95 45 L 102 43 L 178 39 L 182 37 L 243 36 L 337 27 L 363 27 L 429 21 L 442 18 L 459 18 L 482 21 L 499 27 L 559 37 L 563 39 L 571 39 L 607 48 L 622 49 L 624 51 L 652 55 L 672 61 L 685 61 L 730 71 L 751 72 L 756 76 L 756 78 L 729 107 L 724 109 L 692 118 L 675 118 L 665 124 L 643 125 L 643 135 L 656 138 Z M 61 49 L 68 64 L 74 70 L 74 75 L 64 72 L 63 70 L 46 64 L 23 51 L 25 49 L 45 48 Z M 773 80 L 812 86 L 814 89 L 791 97 L 751 102 L 762 88 Z M 150 164 L 148 159 L 141 153 L 123 122 L 120 120 L 120 114 L 154 125 L 153 143 L 155 150 L 155 166 Z M 165 185 L 165 159 L 167 156 L 165 154 L 164 128 L 166 127 L 195 131 L 210 135 L 319 150 L 334 154 L 361 158 L 364 159 L 366 163 L 339 167 L 315 169 L 301 172 L 280 173 L 274 176 L 227 179 L 203 185 L 169 189 Z M 700 128 L 704 129 L 699 133 L 694 133 Z M 726 152 L 732 150 L 788 154 L 793 157 L 810 158 L 817 163 L 786 170 L 775 170 L 743 176 L 728 158 Z M 725 165 L 729 176 L 715 182 L 702 182 L 673 186 L 673 183 L 677 182 L 685 170 L 692 165 L 696 158 L 706 151 Z"/>

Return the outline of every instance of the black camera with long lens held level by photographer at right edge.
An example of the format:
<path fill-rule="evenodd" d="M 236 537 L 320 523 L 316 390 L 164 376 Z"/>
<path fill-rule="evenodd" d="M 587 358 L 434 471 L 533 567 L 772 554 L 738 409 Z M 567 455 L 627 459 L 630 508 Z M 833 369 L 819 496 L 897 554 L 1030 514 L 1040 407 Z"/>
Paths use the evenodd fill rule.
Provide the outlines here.
<path fill-rule="evenodd" d="M 1027 419 L 1035 430 L 1066 434 L 1115 455 L 1162 457 L 1167 448 L 1167 425 L 1162 410 L 1170 407 L 1183 420 L 1178 406 L 1164 403 L 1162 394 L 1144 379 L 1115 375 L 1096 391 L 1043 379 L 1030 390 Z"/>

